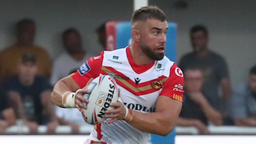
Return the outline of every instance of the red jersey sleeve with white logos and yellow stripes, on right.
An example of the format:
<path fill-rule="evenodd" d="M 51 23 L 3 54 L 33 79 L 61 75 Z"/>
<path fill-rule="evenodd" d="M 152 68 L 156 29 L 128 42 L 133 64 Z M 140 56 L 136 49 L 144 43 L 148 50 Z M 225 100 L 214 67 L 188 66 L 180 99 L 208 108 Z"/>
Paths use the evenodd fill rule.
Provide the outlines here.
<path fill-rule="evenodd" d="M 170 76 L 163 85 L 160 95 L 171 97 L 183 102 L 184 75 L 182 70 L 174 63 L 170 70 Z"/>

